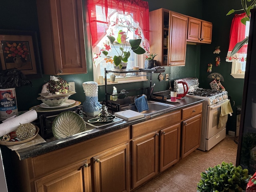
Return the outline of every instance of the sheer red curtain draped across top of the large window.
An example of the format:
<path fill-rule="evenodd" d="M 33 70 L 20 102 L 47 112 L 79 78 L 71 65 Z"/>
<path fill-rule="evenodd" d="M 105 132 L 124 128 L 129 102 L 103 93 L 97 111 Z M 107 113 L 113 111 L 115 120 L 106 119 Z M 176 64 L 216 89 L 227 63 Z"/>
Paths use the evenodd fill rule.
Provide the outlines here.
<path fill-rule="evenodd" d="M 113 10 L 122 14 L 129 13 L 139 23 L 143 35 L 149 42 L 148 2 L 142 0 L 87 0 L 92 47 L 104 37 L 109 26 L 109 16 Z M 109 10 L 111 11 L 109 12 Z"/>

